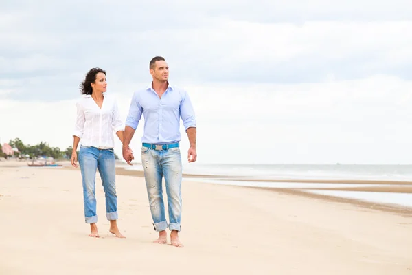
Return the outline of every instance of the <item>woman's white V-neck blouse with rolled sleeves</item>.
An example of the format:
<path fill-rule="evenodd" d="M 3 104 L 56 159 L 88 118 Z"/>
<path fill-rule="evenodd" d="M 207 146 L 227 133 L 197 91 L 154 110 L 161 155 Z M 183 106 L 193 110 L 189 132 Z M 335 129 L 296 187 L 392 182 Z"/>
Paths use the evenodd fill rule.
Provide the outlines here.
<path fill-rule="evenodd" d="M 114 148 L 114 133 L 124 131 L 115 98 L 104 95 L 102 109 L 90 95 L 76 103 L 77 118 L 73 136 L 80 138 L 83 146 Z"/>

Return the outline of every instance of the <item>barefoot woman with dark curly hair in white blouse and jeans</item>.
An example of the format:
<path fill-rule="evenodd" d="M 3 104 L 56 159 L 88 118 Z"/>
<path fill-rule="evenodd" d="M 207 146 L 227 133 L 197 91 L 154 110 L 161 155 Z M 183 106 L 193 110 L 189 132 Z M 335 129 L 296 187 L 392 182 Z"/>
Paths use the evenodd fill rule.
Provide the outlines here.
<path fill-rule="evenodd" d="M 99 237 L 96 225 L 95 175 L 98 170 L 106 195 L 106 218 L 110 221 L 109 231 L 124 238 L 117 228 L 117 195 L 115 184 L 115 146 L 113 131 L 123 143 L 124 126 L 120 120 L 117 102 L 105 94 L 106 72 L 100 68 L 91 69 L 80 85 L 82 98 L 77 102 L 77 119 L 73 133 L 71 164 L 78 167 L 83 181 L 84 217 L 90 224 L 89 236 Z M 80 142 L 81 140 L 81 142 Z M 79 159 L 76 148 L 80 142 Z"/>

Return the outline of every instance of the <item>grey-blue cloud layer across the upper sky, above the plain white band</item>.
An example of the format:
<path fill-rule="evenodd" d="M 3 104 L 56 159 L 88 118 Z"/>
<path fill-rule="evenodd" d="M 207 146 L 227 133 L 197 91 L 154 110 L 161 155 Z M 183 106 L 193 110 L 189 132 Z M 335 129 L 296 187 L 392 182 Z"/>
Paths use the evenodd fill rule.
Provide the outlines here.
<path fill-rule="evenodd" d="M 130 91 L 150 80 L 157 55 L 179 83 L 411 79 L 405 1 L 279 3 L 259 0 L 251 10 L 249 1 L 5 1 L 0 79 L 18 84 L 0 89 L 14 100 L 71 99 L 84 74 L 103 67 L 115 89 Z"/>

